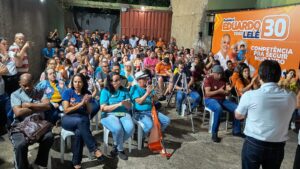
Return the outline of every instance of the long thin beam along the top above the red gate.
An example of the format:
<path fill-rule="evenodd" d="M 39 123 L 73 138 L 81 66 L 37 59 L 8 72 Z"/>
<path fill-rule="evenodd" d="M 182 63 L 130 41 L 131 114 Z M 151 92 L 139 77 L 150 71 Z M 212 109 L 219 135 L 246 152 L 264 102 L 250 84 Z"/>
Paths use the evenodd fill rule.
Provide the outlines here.
<path fill-rule="evenodd" d="M 142 7 L 144 7 L 145 11 L 148 11 L 148 10 L 171 11 L 171 9 L 168 7 L 132 5 L 132 4 L 99 2 L 99 1 L 89 1 L 89 0 L 60 0 L 60 2 L 64 6 L 77 6 L 77 7 L 86 7 L 86 8 L 121 10 L 122 7 L 130 8 L 130 9 L 141 9 Z"/>

